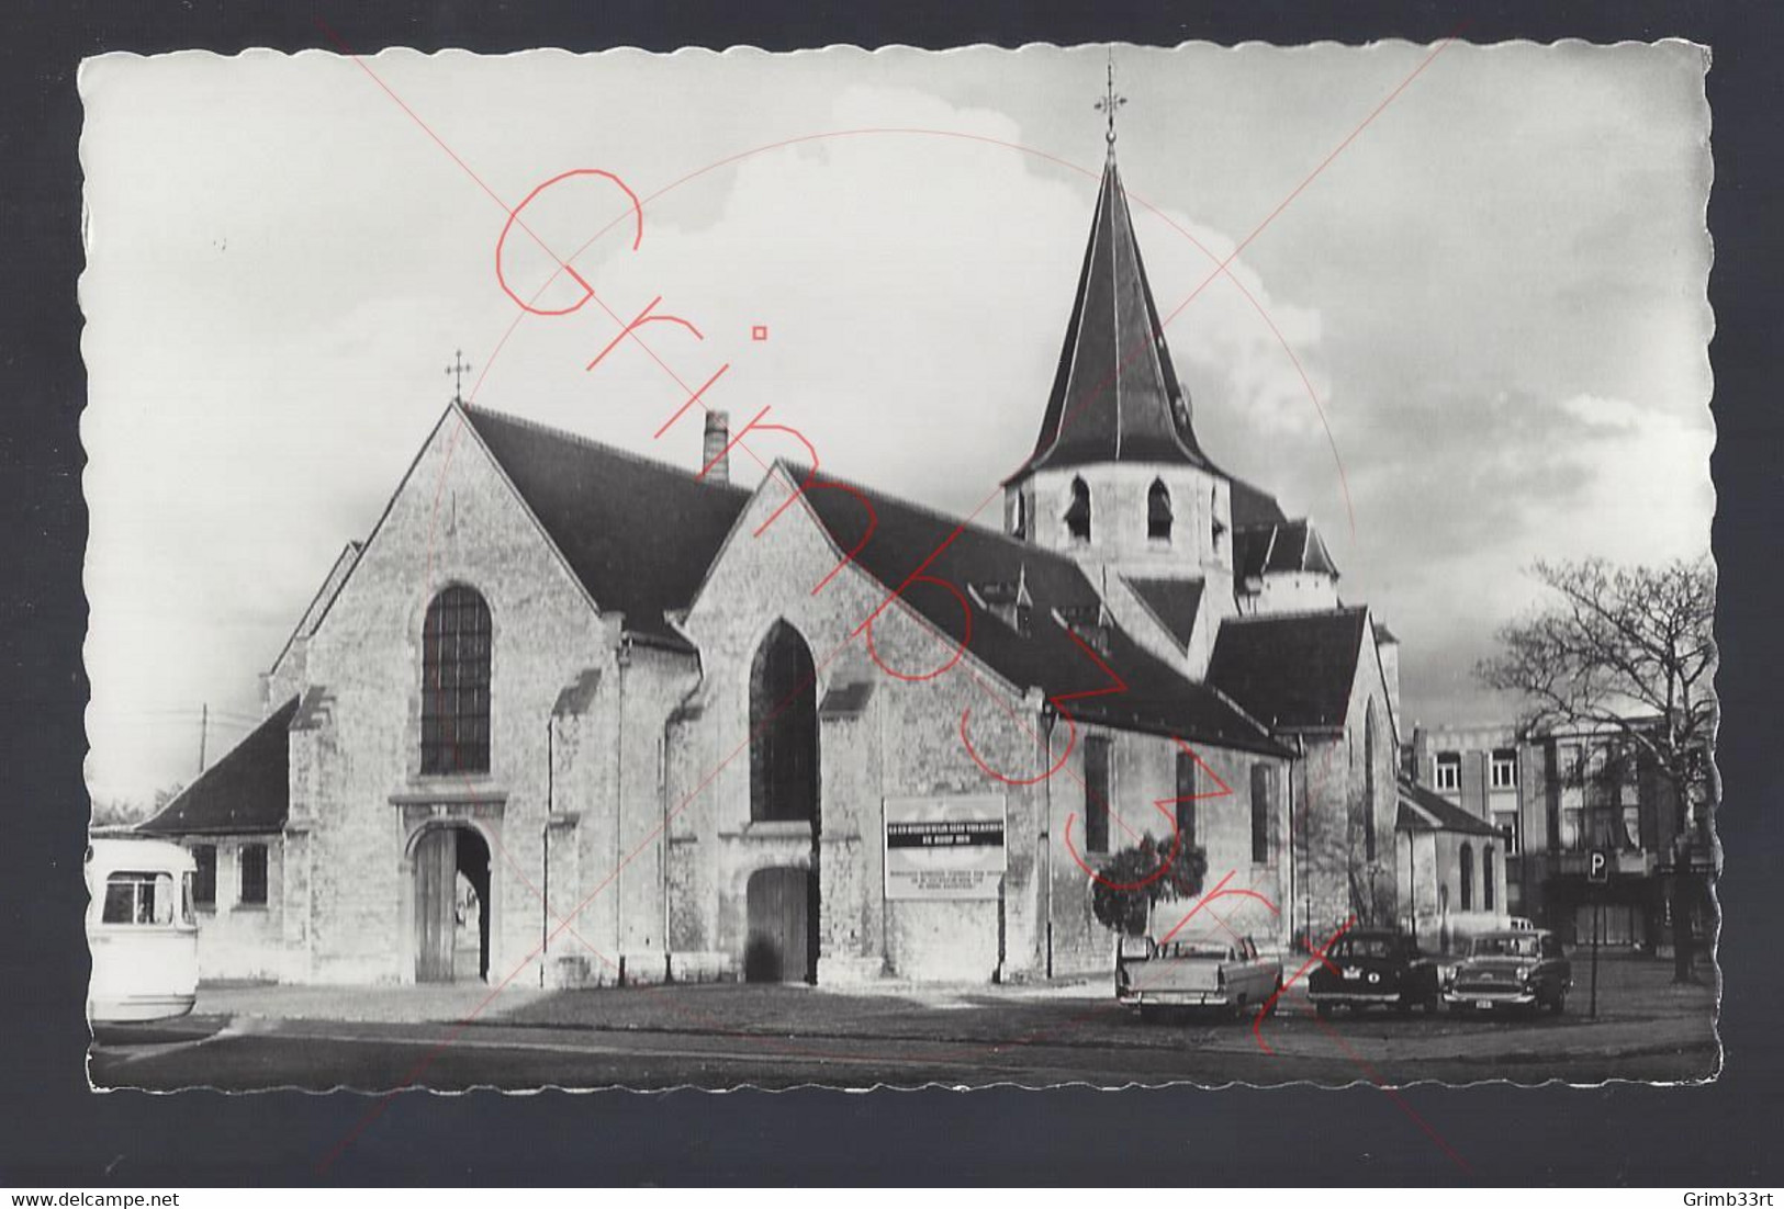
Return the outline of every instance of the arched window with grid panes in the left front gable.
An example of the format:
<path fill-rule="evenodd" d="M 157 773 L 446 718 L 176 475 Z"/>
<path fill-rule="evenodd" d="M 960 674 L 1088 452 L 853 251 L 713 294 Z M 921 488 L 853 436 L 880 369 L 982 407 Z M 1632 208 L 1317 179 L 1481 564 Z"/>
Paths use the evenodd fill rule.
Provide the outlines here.
<path fill-rule="evenodd" d="M 421 770 L 489 772 L 489 604 L 455 585 L 421 628 Z"/>

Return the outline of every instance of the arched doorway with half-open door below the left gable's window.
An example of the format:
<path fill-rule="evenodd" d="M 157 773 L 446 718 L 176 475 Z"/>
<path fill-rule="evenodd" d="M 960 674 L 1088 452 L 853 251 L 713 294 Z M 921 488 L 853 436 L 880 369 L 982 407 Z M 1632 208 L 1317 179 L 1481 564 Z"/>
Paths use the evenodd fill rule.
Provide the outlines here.
<path fill-rule="evenodd" d="M 416 840 L 416 981 L 489 977 L 489 843 L 475 827 L 428 827 Z"/>

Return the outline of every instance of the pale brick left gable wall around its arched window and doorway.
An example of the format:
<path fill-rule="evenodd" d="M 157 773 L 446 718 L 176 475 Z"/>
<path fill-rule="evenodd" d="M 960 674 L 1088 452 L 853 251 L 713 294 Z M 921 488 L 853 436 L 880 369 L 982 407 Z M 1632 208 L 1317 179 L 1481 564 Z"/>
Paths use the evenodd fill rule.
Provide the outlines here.
<path fill-rule="evenodd" d="M 453 583 L 482 592 L 492 613 L 491 772 L 423 777 L 421 624 Z M 578 669 L 612 667 L 612 631 L 475 432 L 448 414 L 309 642 L 305 679 L 328 701 L 326 720 L 291 738 L 291 829 L 307 870 L 303 899 L 287 901 L 298 977 L 414 977 L 409 859 L 426 822 L 475 826 L 491 847 L 492 977 L 528 959 L 541 931 L 546 719 Z M 599 797 L 591 804 L 599 817 Z M 617 950 L 598 918 L 578 927 Z"/>

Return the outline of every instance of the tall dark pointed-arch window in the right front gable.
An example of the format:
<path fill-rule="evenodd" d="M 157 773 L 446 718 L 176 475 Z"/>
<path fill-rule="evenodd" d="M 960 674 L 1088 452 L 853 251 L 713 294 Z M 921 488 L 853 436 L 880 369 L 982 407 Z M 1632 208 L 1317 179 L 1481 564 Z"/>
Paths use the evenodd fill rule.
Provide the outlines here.
<path fill-rule="evenodd" d="M 785 621 L 749 665 L 749 820 L 817 827 L 817 674 Z"/>

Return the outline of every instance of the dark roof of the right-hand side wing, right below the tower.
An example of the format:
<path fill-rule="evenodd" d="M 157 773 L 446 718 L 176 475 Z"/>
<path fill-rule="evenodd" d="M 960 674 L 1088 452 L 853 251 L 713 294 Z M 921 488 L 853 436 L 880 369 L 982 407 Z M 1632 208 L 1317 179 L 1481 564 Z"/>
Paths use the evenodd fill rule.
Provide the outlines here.
<path fill-rule="evenodd" d="M 1340 728 L 1350 706 L 1368 610 L 1227 617 L 1208 683 L 1283 729 Z"/>

